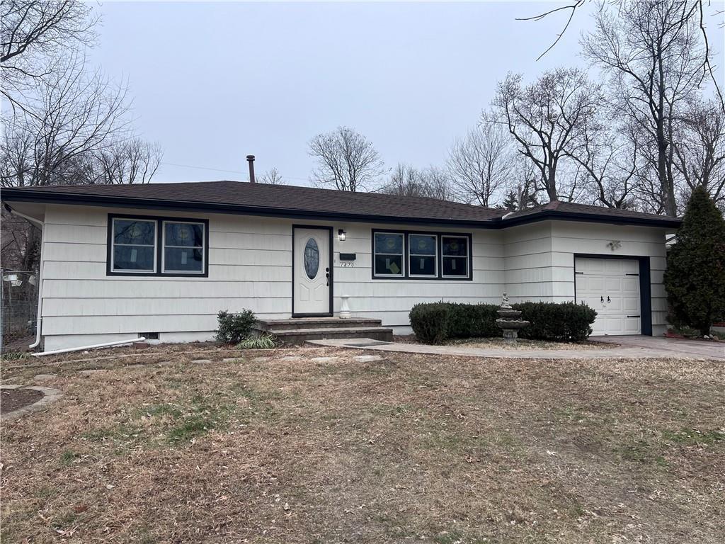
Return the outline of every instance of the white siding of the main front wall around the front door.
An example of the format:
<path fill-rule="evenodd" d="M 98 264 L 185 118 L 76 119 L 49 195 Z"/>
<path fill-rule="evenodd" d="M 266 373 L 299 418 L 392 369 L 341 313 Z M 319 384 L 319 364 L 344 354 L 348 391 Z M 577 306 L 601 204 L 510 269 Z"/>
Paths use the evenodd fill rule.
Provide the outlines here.
<path fill-rule="evenodd" d="M 209 220 L 209 277 L 107 276 L 109 213 Z M 133 339 L 159 333 L 162 342 L 212 339 L 219 310 L 249 308 L 259 318 L 291 316 L 292 225 L 333 227 L 334 312 L 349 297 L 353 316 L 381 319 L 410 332 L 418 302 L 498 302 L 504 287 L 500 231 L 293 221 L 241 215 L 49 205 L 42 248 L 44 348 Z M 346 231 L 346 240 L 337 231 Z M 373 228 L 472 235 L 473 280 L 373 280 Z M 341 268 L 339 253 L 355 253 Z"/>

